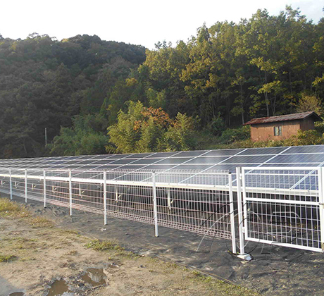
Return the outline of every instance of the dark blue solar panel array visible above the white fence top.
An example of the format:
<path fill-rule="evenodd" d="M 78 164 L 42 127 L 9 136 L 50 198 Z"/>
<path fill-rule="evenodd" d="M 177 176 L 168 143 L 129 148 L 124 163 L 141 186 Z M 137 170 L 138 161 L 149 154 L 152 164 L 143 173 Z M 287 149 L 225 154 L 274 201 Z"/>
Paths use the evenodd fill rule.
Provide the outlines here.
<path fill-rule="evenodd" d="M 2 159 L 3 168 L 89 170 L 227 170 L 237 166 L 322 166 L 324 145 L 219 149 L 189 152 L 56 156 L 30 159 Z"/>

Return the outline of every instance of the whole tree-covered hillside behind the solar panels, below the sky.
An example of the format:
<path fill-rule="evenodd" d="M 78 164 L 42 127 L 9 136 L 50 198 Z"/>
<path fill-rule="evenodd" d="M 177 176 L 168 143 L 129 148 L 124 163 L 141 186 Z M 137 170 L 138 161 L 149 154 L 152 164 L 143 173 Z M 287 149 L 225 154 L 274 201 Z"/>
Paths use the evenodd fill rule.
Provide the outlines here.
<path fill-rule="evenodd" d="M 0 35 L 0 158 L 203 149 L 244 139 L 253 117 L 322 116 L 323 101 L 324 18 L 289 6 L 154 50 Z"/>

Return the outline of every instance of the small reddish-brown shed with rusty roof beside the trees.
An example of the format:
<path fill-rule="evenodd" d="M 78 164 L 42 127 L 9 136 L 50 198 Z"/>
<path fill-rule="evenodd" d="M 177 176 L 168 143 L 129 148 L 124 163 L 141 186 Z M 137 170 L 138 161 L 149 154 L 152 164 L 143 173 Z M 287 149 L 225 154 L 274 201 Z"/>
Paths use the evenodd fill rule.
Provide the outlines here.
<path fill-rule="evenodd" d="M 315 121 L 323 121 L 315 112 L 294 113 L 281 116 L 254 118 L 244 125 L 251 125 L 251 140 L 284 140 L 297 134 L 297 130 L 313 130 Z"/>

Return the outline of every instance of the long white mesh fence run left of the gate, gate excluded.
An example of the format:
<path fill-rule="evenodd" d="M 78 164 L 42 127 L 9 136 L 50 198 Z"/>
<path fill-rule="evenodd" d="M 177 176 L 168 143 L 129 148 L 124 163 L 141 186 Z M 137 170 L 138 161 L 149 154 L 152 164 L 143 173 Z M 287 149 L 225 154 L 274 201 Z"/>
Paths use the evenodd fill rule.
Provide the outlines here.
<path fill-rule="evenodd" d="M 232 241 L 232 175 L 226 171 L 70 171 L 0 168 L 0 192 Z"/>

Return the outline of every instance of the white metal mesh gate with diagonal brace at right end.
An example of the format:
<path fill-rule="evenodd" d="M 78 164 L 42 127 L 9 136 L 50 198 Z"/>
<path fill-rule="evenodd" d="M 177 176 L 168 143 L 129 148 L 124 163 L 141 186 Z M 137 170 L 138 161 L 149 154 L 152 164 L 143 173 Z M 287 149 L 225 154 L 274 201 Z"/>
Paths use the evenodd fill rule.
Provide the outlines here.
<path fill-rule="evenodd" d="M 322 251 L 320 168 L 243 168 L 245 238 Z"/>

